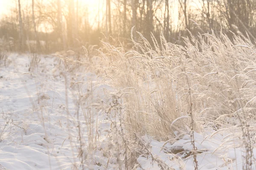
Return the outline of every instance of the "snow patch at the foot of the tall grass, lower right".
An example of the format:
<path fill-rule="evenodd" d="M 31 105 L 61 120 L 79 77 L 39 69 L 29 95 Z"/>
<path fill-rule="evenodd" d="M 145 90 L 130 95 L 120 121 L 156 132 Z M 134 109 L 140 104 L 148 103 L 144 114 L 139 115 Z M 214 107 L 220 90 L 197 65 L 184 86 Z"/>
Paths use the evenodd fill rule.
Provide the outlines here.
<path fill-rule="evenodd" d="M 213 132 L 213 131 L 212 131 Z M 207 135 L 207 134 L 205 134 Z M 197 147 L 197 161 L 200 170 L 242 170 L 245 158 L 245 148 L 235 148 L 232 144 L 227 144 L 229 147 L 221 147 L 224 137 L 229 134 L 217 134 L 212 138 L 195 133 L 195 146 Z M 239 140 L 239 139 L 237 139 Z M 169 167 L 175 170 L 194 169 L 193 156 L 189 151 L 192 151 L 192 144 L 189 134 L 184 135 L 182 139 L 178 139 L 173 144 L 166 142 L 158 142 L 150 137 L 144 138 L 151 146 L 151 153 L 154 159 L 163 160 Z M 232 143 L 232 142 L 231 142 Z M 183 152 L 175 153 L 175 149 L 183 150 Z M 172 153 L 173 152 L 173 153 Z M 188 155 L 189 153 L 189 155 Z M 253 158 L 256 157 L 256 148 L 253 148 Z M 152 163 L 152 157 L 141 155 L 138 158 L 143 169 L 146 170 L 161 170 L 156 162 Z M 141 168 L 137 168 L 141 170 Z M 253 161 L 252 170 L 256 170 L 255 162 Z"/>

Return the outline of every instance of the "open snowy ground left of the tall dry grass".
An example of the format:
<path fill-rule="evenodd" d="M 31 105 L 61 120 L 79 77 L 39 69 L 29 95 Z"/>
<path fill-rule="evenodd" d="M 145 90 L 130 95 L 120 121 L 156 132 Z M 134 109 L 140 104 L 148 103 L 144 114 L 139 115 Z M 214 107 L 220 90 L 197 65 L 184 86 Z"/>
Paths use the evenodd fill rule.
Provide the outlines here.
<path fill-rule="evenodd" d="M 80 148 L 87 148 L 90 142 L 89 118 L 86 120 L 88 115 L 83 115 L 78 100 L 85 99 L 90 90 L 95 102 L 107 102 L 104 93 L 111 88 L 97 84 L 94 74 L 73 74 L 64 66 L 58 68 L 58 57 L 40 56 L 41 61 L 34 69 L 29 69 L 28 56 L 12 54 L 8 57 L 9 64 L 0 68 L 0 167 L 9 170 L 76 169 L 81 162 Z M 76 82 L 79 83 L 74 85 Z M 78 85 L 82 88 L 77 88 Z M 98 109 L 89 115 L 90 123 L 98 126 L 100 136 L 97 138 L 102 138 L 99 140 L 104 139 L 104 128 L 109 129 L 103 113 Z M 95 164 L 87 163 L 84 168 Z"/>

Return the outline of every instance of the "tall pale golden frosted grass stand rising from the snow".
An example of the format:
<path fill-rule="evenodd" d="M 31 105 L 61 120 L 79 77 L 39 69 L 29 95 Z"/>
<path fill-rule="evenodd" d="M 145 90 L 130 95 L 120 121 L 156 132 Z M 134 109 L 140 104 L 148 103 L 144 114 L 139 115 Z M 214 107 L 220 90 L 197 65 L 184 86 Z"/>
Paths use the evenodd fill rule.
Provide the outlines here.
<path fill-rule="evenodd" d="M 133 35 L 133 33 L 131 33 Z M 111 80 L 122 100 L 127 134 L 149 135 L 160 141 L 181 133 L 203 133 L 205 127 L 241 136 L 246 148 L 244 169 L 254 161 L 256 115 L 256 52 L 250 39 L 234 34 L 203 34 L 184 38 L 185 46 L 154 36 L 154 46 L 133 40 L 126 51 L 103 42 L 94 65 L 99 77 Z M 196 150 L 196 147 L 194 147 Z M 193 154 L 193 153 L 192 153 Z M 196 154 L 194 155 L 197 169 Z"/>

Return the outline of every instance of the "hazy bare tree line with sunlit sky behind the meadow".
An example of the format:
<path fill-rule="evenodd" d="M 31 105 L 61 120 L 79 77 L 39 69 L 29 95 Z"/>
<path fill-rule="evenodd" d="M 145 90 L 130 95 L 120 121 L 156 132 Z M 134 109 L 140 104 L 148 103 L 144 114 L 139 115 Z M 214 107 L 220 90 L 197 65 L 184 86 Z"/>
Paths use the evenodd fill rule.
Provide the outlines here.
<path fill-rule="evenodd" d="M 256 33 L 255 0 L 14 0 L 0 20 L 1 44 L 13 51 L 60 51 L 100 40 L 128 44 L 131 28 L 148 40 L 163 33 L 168 42 L 222 30 L 252 39 Z M 189 31 L 188 31 L 189 30 Z M 256 41 L 256 40 L 255 40 Z"/>

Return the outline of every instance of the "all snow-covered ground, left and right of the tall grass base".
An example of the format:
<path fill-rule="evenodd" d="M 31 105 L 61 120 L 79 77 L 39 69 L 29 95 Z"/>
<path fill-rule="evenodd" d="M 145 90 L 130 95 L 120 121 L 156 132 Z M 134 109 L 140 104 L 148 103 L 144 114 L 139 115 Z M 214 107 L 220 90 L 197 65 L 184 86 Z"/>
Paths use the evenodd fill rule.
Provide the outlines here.
<path fill-rule="evenodd" d="M 54 56 L 40 56 L 33 68 L 29 54 L 9 54 L 7 63 L 0 67 L 0 170 L 123 168 L 118 156 L 103 152 L 110 144 L 113 125 L 106 109 L 114 88 L 86 68 L 66 69 Z M 229 133 L 203 131 L 195 133 L 200 170 L 243 169 L 238 126 Z M 140 140 L 148 147 L 138 151 L 138 170 L 194 169 L 189 134 L 177 133 L 167 142 Z M 253 153 L 255 158 L 256 148 Z"/>

